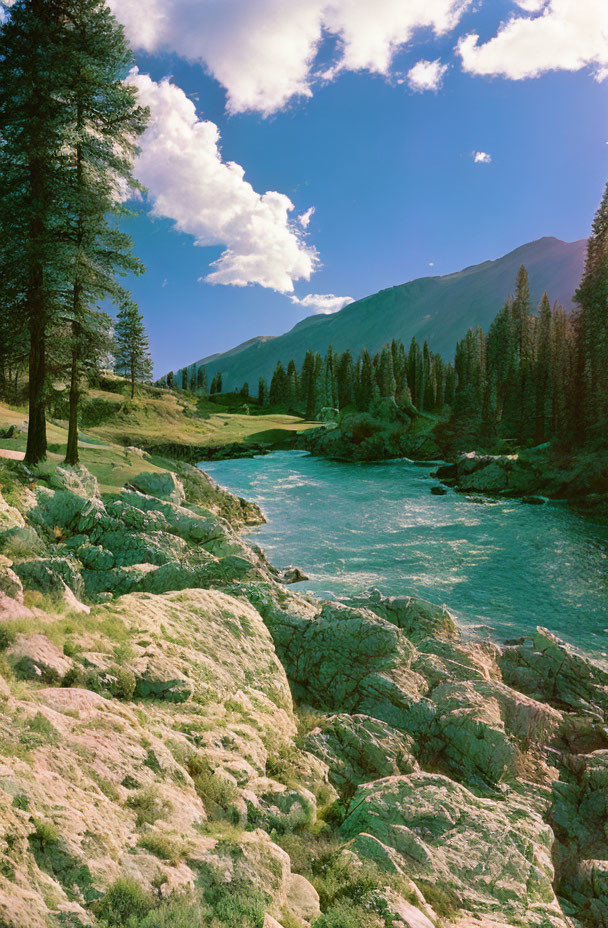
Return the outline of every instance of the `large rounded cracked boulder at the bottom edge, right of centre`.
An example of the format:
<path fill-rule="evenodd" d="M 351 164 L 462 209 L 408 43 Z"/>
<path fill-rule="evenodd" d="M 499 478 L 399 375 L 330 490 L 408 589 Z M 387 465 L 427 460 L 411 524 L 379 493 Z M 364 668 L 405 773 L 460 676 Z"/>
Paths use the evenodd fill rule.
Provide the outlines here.
<path fill-rule="evenodd" d="M 477 917 L 529 928 L 566 928 L 553 890 L 553 834 L 514 799 L 481 799 L 438 774 L 412 773 L 360 786 L 342 825 L 347 838 L 377 837 L 408 875 L 443 889 Z"/>

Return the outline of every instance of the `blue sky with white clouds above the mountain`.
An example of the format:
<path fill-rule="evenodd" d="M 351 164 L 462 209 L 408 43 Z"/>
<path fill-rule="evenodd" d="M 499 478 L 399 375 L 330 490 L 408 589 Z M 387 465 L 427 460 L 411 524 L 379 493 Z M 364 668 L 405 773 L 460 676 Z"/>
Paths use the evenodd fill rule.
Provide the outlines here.
<path fill-rule="evenodd" d="M 591 23 L 595 34 L 577 18 L 581 3 L 571 0 L 486 0 L 468 4 L 464 13 L 454 13 L 459 0 L 427 0 L 427 7 L 437 8 L 434 25 L 441 34 L 423 26 L 407 41 L 393 35 L 388 66 L 382 36 L 371 51 L 363 40 L 357 46 L 356 29 L 365 38 L 366 24 L 351 7 L 351 19 L 341 14 L 340 26 L 332 26 L 330 14 L 319 14 L 327 21 L 314 44 L 314 63 L 309 54 L 305 64 L 308 96 L 291 93 L 284 69 L 273 73 L 272 61 L 260 62 L 256 86 L 246 82 L 258 66 L 247 56 L 257 51 L 251 43 L 243 51 L 244 39 L 235 34 L 233 40 L 239 30 L 230 22 L 242 0 L 226 0 L 224 21 L 213 0 L 197 0 L 196 16 L 193 0 L 169 0 L 168 40 L 166 26 L 162 38 L 151 37 L 137 17 L 130 18 L 138 2 L 114 0 L 114 8 L 137 47 L 134 80 L 154 118 L 137 166 L 149 197 L 126 225 L 148 268 L 133 292 L 157 374 L 254 335 L 281 333 L 318 308 L 315 295 L 357 299 L 499 257 L 542 235 L 571 241 L 588 233 L 608 176 L 603 0 Z M 152 22 L 154 2 L 147 4 Z M 273 2 L 250 0 L 260 17 Z M 308 0 L 293 2 L 308 15 Z M 322 6 L 310 0 L 315 3 Z M 375 6 L 383 4 L 388 12 L 380 24 L 388 28 L 398 4 L 377 0 Z M 407 7 L 408 0 L 401 4 Z M 446 25 L 448 15 L 455 22 Z M 262 22 L 260 35 L 270 44 L 260 55 L 268 58 L 270 49 L 280 58 L 290 42 L 294 58 L 304 54 L 296 47 L 300 24 L 283 24 L 284 34 L 277 29 L 275 35 L 276 19 L 269 22 Z M 598 23 L 605 27 L 599 36 Z M 250 29 L 259 25 L 252 22 Z M 556 25 L 574 46 L 568 70 L 562 69 Z M 214 29 L 221 41 L 208 52 L 204 35 Z M 541 30 L 532 35 L 532 51 L 524 29 Z M 455 48 L 472 32 L 479 38 L 465 61 Z M 339 73 L 315 77 L 351 52 L 353 61 Z M 247 68 L 243 79 L 240 58 Z M 436 89 L 411 86 L 408 73 L 421 60 L 438 62 L 441 79 L 431 72 Z M 529 76 L 534 73 L 539 76 Z M 301 75 L 294 79 L 300 89 Z M 171 83 L 163 84 L 167 78 Z M 188 110 L 192 102 L 196 113 Z M 170 123 L 178 111 L 186 128 L 176 130 Z M 475 152 L 489 157 L 475 161 Z M 244 178 L 225 169 L 230 161 L 242 167 Z M 260 202 L 266 191 L 281 198 Z M 285 197 L 293 204 L 288 213 Z M 311 207 L 304 229 L 297 217 Z M 251 224 L 258 221 L 259 235 Z M 262 243 L 260 254 L 250 253 L 256 249 L 252 236 Z M 212 244 L 196 245 L 197 237 Z M 276 255 L 268 257 L 275 246 Z M 226 248 L 231 257 L 221 265 L 220 280 L 227 282 L 207 282 Z M 261 282 L 234 285 L 249 276 Z M 309 305 L 291 299 L 311 294 Z"/>

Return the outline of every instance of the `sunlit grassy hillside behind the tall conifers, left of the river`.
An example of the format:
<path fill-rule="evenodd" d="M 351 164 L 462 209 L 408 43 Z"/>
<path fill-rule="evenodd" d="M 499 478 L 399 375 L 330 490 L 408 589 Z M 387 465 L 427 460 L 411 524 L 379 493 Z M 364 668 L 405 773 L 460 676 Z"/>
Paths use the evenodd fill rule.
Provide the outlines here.
<path fill-rule="evenodd" d="M 243 410 L 240 397 L 221 397 L 219 402 L 192 394 L 141 387 L 135 399 L 128 396 L 119 378 L 107 378 L 91 390 L 83 403 L 80 448 L 82 463 L 102 487 L 122 486 L 137 473 L 154 469 L 155 459 L 164 467 L 164 455 L 195 462 L 200 454 L 221 454 L 231 446 L 238 453 L 290 442 L 297 432 L 318 425 L 296 416 Z M 222 402 L 223 401 L 223 402 Z M 235 411 L 239 409 L 240 411 Z M 61 404 L 57 418 L 48 423 L 49 461 L 63 459 L 67 421 Z M 11 431 L 10 437 L 2 433 Z M 19 458 L 25 451 L 27 408 L 0 403 L 0 450 Z M 145 456 L 142 451 L 148 452 Z M 162 460 L 161 460 L 162 459 Z"/>

